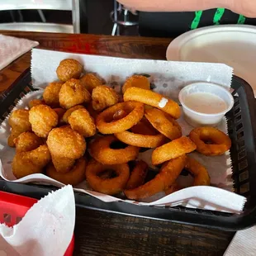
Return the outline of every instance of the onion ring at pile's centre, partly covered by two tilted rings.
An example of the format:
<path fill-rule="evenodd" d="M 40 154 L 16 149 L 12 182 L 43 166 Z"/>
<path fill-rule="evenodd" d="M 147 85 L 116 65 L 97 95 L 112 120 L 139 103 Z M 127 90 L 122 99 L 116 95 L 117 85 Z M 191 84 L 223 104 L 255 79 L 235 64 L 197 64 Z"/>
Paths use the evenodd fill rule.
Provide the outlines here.
<path fill-rule="evenodd" d="M 140 121 L 130 130 L 131 131 L 125 130 L 120 133 L 115 133 L 115 136 L 118 140 L 121 140 L 128 145 L 141 148 L 156 148 L 166 142 L 166 137 L 164 135 L 156 134 L 154 133 L 154 130 L 152 132 L 150 127 L 147 126 L 144 121 Z"/>

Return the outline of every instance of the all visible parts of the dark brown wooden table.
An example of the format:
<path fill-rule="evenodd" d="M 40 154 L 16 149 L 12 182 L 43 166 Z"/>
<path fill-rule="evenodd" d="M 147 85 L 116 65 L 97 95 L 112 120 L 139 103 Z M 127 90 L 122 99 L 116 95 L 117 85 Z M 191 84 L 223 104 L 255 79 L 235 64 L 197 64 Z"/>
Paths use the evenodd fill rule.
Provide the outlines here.
<path fill-rule="evenodd" d="M 169 39 L 0 31 L 40 48 L 92 55 L 165 59 Z M 31 53 L 0 71 L 0 94 L 30 66 Z M 74 255 L 222 255 L 233 232 L 77 208 Z"/>

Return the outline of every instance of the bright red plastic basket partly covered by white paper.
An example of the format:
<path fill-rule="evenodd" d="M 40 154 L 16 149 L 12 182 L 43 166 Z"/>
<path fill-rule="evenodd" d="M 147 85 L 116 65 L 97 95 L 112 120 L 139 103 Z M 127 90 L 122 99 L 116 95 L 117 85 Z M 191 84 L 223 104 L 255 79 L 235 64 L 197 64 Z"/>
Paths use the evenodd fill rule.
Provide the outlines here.
<path fill-rule="evenodd" d="M 8 226 L 15 225 L 22 220 L 31 206 L 36 203 L 36 199 L 31 197 L 22 197 L 19 195 L 0 192 L 0 223 Z M 74 237 L 69 244 L 64 256 L 73 255 Z"/>

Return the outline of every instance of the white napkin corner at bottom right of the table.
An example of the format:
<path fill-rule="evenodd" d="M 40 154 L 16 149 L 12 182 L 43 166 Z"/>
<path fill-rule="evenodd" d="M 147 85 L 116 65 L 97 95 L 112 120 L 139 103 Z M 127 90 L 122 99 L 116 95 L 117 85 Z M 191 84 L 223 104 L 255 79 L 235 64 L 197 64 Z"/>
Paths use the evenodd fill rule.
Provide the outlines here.
<path fill-rule="evenodd" d="M 254 256 L 256 254 L 256 226 L 236 232 L 224 256 Z"/>

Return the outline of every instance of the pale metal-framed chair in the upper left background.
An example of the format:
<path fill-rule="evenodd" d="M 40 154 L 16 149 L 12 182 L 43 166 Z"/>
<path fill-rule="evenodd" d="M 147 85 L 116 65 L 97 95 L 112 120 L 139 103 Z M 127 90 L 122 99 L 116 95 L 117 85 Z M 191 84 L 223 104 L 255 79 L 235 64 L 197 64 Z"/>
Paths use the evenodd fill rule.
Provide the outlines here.
<path fill-rule="evenodd" d="M 0 11 L 37 10 L 42 22 L 1 23 L 0 30 L 80 33 L 79 0 L 0 0 Z M 72 12 L 72 25 L 47 23 L 41 10 Z"/>

